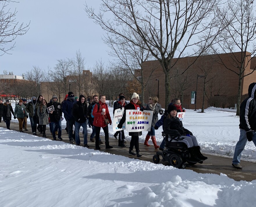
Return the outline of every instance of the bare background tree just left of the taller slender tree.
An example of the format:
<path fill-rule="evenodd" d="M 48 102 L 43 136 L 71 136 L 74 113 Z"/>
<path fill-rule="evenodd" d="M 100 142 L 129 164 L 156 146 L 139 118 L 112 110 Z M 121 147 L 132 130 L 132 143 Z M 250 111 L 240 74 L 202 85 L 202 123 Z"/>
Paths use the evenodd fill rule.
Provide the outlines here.
<path fill-rule="evenodd" d="M 52 74 L 53 79 L 54 81 L 62 83 L 62 88 L 59 88 L 59 90 L 61 90 L 62 93 L 67 94 L 72 61 L 63 59 L 57 61 L 58 63 L 55 65 L 54 72 Z"/>

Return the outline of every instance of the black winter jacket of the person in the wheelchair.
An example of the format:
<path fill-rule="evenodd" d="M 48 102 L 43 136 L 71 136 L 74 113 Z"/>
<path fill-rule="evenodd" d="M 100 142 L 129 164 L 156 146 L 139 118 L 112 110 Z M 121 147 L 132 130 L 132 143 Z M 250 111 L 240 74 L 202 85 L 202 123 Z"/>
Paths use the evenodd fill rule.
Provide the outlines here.
<path fill-rule="evenodd" d="M 192 132 L 183 127 L 182 121 L 179 121 L 178 117 L 164 119 L 164 132 L 177 137 L 188 133 L 193 135 Z"/>

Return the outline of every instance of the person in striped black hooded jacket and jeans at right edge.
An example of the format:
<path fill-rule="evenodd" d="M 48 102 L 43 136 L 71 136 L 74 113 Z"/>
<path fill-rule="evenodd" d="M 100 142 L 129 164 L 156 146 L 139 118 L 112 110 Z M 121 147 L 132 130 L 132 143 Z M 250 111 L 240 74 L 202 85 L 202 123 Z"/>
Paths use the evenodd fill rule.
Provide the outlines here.
<path fill-rule="evenodd" d="M 232 166 L 242 169 L 240 158 L 248 141 L 253 141 L 256 146 L 256 83 L 251 83 L 248 89 L 248 97 L 240 106 L 240 137 L 237 142 Z"/>

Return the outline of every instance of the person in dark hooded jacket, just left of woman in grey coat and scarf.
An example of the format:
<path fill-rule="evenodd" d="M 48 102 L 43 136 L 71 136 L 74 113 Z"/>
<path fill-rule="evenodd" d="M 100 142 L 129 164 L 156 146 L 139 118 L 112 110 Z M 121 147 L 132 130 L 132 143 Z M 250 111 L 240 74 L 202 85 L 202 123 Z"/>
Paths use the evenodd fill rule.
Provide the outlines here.
<path fill-rule="evenodd" d="M 29 119 L 31 123 L 31 129 L 32 129 L 32 134 L 36 134 L 36 124 L 37 124 L 37 119 L 36 119 L 36 114 L 37 114 L 37 108 L 38 108 L 38 103 L 36 102 L 36 97 L 33 96 L 31 101 L 27 104 L 26 106 L 26 111 L 29 113 Z"/>

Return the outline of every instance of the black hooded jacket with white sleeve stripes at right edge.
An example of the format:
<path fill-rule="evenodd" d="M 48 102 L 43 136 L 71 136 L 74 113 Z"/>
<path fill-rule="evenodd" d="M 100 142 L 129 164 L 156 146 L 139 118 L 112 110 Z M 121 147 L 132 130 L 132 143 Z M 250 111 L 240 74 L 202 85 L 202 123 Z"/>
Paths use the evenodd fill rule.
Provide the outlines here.
<path fill-rule="evenodd" d="M 251 83 L 248 95 L 240 105 L 239 128 L 246 132 L 256 130 L 256 83 Z"/>

